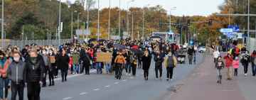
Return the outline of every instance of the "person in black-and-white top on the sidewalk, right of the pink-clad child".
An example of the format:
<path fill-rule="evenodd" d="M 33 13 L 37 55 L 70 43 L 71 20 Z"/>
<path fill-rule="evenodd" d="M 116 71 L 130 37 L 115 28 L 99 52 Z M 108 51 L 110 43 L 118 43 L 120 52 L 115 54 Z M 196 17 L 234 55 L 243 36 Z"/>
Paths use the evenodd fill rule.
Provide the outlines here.
<path fill-rule="evenodd" d="M 240 62 L 242 63 L 242 66 L 244 67 L 245 77 L 247 77 L 248 65 L 250 62 L 249 52 L 247 50 L 242 51 L 241 57 L 242 57 L 242 59 Z"/>

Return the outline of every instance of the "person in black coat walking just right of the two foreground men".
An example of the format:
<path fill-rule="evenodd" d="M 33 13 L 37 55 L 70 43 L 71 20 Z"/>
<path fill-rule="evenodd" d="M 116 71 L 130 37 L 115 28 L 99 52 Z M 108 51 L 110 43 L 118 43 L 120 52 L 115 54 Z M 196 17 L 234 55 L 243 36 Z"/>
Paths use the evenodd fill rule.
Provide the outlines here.
<path fill-rule="evenodd" d="M 60 68 L 60 71 L 61 71 L 62 82 L 67 81 L 69 60 L 70 59 L 66 54 L 66 50 L 63 49 L 60 55 L 58 56 L 58 60 L 57 60 L 57 63 L 58 63 L 57 66 Z"/>

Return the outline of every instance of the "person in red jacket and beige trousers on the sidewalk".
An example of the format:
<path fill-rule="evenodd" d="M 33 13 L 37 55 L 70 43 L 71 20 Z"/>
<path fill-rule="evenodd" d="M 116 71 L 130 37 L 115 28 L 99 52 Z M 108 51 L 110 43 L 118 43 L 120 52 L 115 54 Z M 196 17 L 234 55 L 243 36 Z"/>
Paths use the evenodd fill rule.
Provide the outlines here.
<path fill-rule="evenodd" d="M 232 63 L 233 63 L 233 56 L 228 53 L 225 57 L 225 67 L 227 68 L 227 75 L 228 78 L 227 80 L 231 80 L 232 79 Z"/>

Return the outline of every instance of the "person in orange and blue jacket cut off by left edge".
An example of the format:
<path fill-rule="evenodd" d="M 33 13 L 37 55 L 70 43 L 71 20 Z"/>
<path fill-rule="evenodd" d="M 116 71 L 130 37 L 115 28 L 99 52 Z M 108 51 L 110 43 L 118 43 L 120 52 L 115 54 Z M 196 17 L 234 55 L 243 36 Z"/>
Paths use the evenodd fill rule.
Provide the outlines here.
<path fill-rule="evenodd" d="M 0 98 L 3 100 L 6 100 L 8 96 L 9 79 L 7 78 L 7 69 L 10 63 L 11 60 L 5 57 L 4 52 L 0 51 Z"/>

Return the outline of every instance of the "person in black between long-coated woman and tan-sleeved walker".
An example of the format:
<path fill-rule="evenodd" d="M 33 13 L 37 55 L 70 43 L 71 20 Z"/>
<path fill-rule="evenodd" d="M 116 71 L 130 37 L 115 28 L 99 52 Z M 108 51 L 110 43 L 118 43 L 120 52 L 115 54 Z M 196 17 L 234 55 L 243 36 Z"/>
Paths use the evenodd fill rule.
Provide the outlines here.
<path fill-rule="evenodd" d="M 162 76 L 162 63 L 164 62 L 164 57 L 161 57 L 160 52 L 156 52 L 156 55 L 154 56 L 154 61 L 155 61 L 155 71 L 156 71 L 156 79 L 158 79 Z M 160 73 L 160 76 L 158 75 L 158 71 Z"/>

